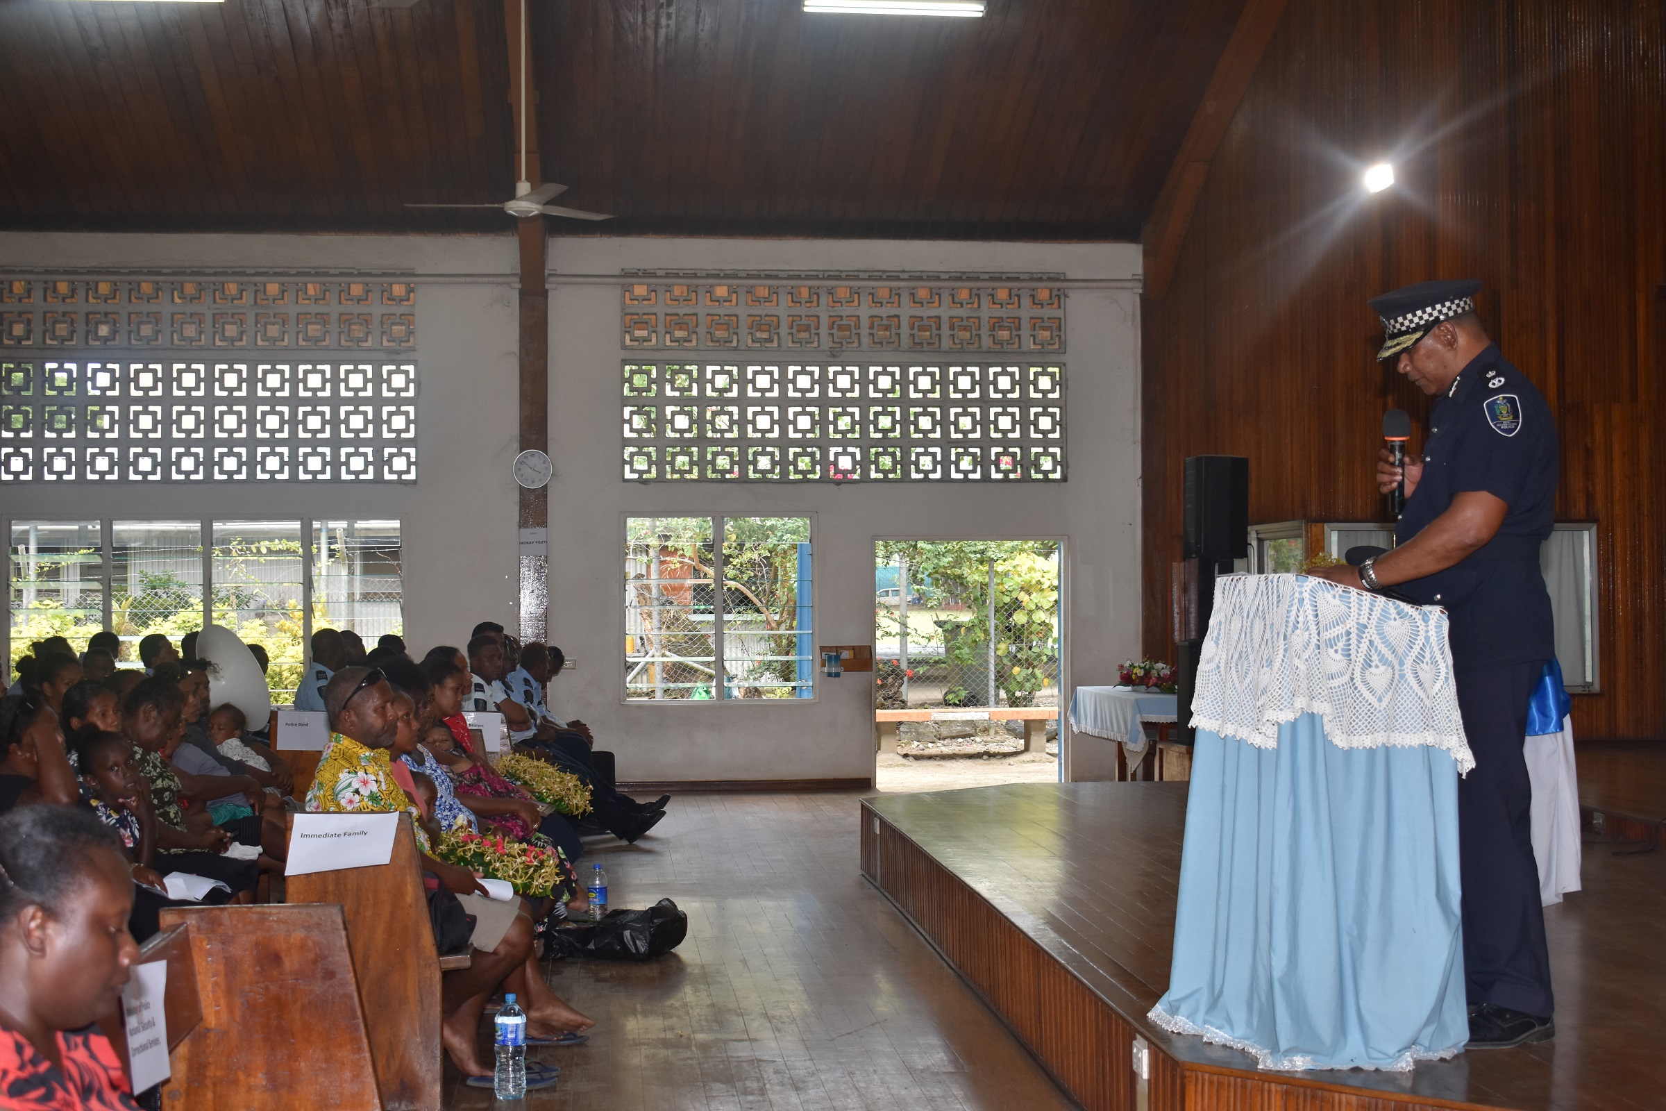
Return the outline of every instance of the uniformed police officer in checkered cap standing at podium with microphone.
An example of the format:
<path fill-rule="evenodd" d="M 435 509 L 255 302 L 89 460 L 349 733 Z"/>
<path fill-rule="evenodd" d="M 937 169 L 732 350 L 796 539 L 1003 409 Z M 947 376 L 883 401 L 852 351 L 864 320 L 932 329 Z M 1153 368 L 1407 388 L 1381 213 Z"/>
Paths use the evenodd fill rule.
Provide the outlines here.
<path fill-rule="evenodd" d="M 1528 701 L 1554 655 L 1539 546 L 1556 501 L 1556 421 L 1474 315 L 1479 281 L 1423 281 L 1373 298 L 1378 360 L 1434 396 L 1393 551 L 1314 575 L 1451 615 L 1453 671 L 1474 770 L 1458 785 L 1469 1048 L 1553 1038 L 1549 956 L 1523 756 Z M 1378 488 L 1401 478 L 1388 451 Z"/>

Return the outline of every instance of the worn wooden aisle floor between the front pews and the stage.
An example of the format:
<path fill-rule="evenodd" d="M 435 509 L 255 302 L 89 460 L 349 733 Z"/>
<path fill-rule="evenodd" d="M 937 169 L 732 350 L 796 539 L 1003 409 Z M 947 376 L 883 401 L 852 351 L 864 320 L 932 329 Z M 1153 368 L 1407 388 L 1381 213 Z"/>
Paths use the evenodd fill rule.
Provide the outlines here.
<path fill-rule="evenodd" d="M 856 825 L 856 793 L 681 795 L 636 846 L 586 856 L 606 866 L 615 906 L 676 899 L 688 939 L 651 964 L 548 964 L 596 1028 L 588 1046 L 533 1049 L 561 1084 L 518 1106 L 1070 1108 L 861 879 Z M 450 1066 L 446 1096 L 493 1106 Z"/>

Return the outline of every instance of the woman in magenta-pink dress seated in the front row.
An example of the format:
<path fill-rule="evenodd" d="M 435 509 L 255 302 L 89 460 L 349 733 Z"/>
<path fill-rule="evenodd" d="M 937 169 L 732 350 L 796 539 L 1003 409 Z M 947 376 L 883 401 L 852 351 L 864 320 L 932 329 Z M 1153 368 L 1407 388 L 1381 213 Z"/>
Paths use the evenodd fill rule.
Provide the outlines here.
<path fill-rule="evenodd" d="M 468 693 L 468 673 L 450 661 L 428 665 L 423 673 L 433 683 L 428 720 L 423 723 L 423 743 L 433 756 L 446 765 L 456 783 L 456 801 L 480 818 L 498 826 L 516 841 L 541 833 L 561 848 L 568 861 L 576 861 L 585 843 L 563 815 L 545 815 L 536 800 L 525 790 L 505 780 L 496 768 L 473 750 L 468 721 L 463 720 L 463 696 Z M 445 745 L 433 725 L 438 723 L 453 745 Z"/>

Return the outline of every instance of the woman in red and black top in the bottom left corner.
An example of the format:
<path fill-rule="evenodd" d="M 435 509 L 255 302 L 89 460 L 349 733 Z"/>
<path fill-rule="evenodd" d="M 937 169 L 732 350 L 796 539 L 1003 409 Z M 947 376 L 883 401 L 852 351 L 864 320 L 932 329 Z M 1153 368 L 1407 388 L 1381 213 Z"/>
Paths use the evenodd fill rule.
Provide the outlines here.
<path fill-rule="evenodd" d="M 20 1111 L 138 1111 L 110 1041 L 138 958 L 117 836 L 67 806 L 0 818 L 0 1093 Z"/>

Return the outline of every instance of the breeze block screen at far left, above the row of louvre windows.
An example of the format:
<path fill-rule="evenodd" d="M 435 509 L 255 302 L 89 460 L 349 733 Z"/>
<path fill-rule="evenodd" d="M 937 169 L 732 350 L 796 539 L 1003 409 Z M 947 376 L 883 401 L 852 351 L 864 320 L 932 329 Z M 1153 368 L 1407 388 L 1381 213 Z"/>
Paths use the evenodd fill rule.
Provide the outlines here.
<path fill-rule="evenodd" d="M 407 281 L 0 277 L 0 483 L 415 481 Z"/>

